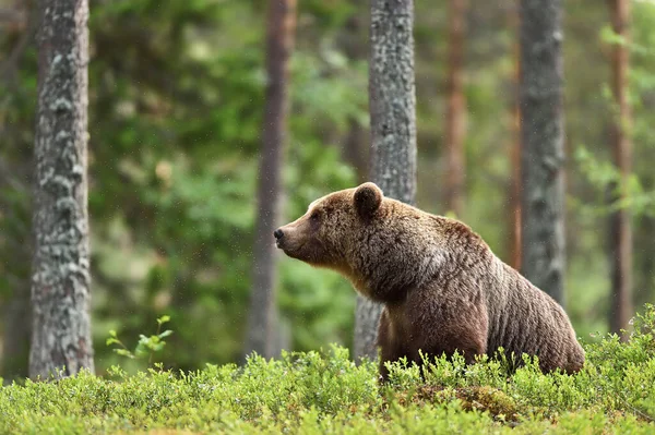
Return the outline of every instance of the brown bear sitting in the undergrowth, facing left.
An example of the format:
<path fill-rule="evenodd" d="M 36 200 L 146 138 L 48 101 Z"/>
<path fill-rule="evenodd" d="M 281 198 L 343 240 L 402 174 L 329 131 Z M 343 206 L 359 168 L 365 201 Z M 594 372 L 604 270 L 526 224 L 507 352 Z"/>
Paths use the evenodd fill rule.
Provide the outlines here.
<path fill-rule="evenodd" d="M 504 264 L 466 225 L 384 197 L 373 183 L 331 193 L 274 232 L 290 257 L 347 277 L 384 304 L 384 363 L 406 357 L 538 355 L 545 372 L 577 372 L 584 351 L 562 307 Z"/>

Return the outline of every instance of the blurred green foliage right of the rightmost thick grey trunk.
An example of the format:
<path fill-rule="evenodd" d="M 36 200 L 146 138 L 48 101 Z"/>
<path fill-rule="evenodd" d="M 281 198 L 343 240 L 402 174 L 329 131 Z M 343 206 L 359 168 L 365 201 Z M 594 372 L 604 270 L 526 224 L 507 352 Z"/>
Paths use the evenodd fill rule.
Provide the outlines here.
<path fill-rule="evenodd" d="M 584 11 L 584 24 L 582 24 Z M 580 16 L 570 21 L 573 32 L 568 38 L 583 38 L 583 32 L 591 32 L 588 38 L 597 40 L 590 50 L 584 44 L 569 44 L 569 59 L 565 71 L 567 86 L 567 135 L 571 146 L 571 170 L 567 173 L 568 222 L 574 229 L 567 240 L 568 245 L 568 289 L 567 309 L 579 334 L 607 330 L 609 301 L 609 267 L 605 254 L 608 237 L 608 216 L 616 209 L 627 209 L 632 215 L 634 256 L 634 302 L 641 305 L 653 301 L 653 252 L 650 244 L 642 241 L 655 237 L 655 178 L 652 161 L 655 158 L 655 4 L 632 2 L 630 40 L 614 34 L 609 25 L 607 7 L 604 15 L 581 5 L 571 4 L 569 16 Z M 576 22 L 577 21 L 577 22 Z M 595 24 L 592 24 L 595 22 Z M 632 111 L 632 122 L 624 123 L 633 144 L 633 172 L 626 189 L 627 197 L 608 204 L 609 188 L 619 181 L 619 173 L 611 162 L 610 122 L 618 119 L 618 110 L 610 90 L 611 59 L 607 56 L 615 45 L 623 45 L 630 51 L 628 100 Z M 602 68 L 580 68 L 600 61 Z M 567 63 L 567 60 L 565 60 Z M 579 75 L 584 75 L 579 80 Z M 575 83 L 575 84 L 574 84 Z M 590 117 L 591 106 L 602 108 Z M 576 126 L 579 125 L 579 126 Z M 603 230 L 599 232 L 598 229 Z M 584 253 L 580 255 L 580 253 Z M 584 318 L 584 322 L 581 319 Z"/>

